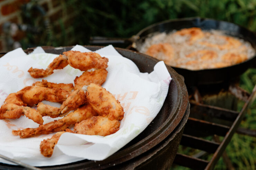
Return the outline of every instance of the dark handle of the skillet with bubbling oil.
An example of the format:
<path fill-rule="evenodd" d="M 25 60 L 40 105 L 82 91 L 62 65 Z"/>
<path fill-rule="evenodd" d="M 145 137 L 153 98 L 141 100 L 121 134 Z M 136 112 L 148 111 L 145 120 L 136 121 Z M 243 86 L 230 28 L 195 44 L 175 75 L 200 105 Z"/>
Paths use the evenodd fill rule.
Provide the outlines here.
<path fill-rule="evenodd" d="M 134 42 L 133 38 L 109 38 L 102 36 L 90 37 L 90 44 L 131 44 Z"/>

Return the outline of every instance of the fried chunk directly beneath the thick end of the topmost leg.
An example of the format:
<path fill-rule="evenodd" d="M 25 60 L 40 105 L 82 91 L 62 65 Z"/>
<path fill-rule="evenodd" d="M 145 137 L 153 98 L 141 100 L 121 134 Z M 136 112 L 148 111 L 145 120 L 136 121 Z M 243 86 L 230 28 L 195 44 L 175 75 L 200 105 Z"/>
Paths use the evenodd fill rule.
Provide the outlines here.
<path fill-rule="evenodd" d="M 108 71 L 104 68 L 99 68 L 92 72 L 83 72 L 83 74 L 74 79 L 75 89 L 86 85 L 88 86 L 90 83 L 95 83 L 102 85 L 107 78 Z"/>

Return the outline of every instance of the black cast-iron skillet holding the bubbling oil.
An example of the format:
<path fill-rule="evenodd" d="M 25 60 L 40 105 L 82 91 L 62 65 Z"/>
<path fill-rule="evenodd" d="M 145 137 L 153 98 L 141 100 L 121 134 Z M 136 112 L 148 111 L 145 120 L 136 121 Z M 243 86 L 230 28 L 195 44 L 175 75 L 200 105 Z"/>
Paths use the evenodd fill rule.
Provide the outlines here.
<path fill-rule="evenodd" d="M 204 18 L 184 18 L 184 19 L 174 19 L 159 22 L 153 25 L 148 26 L 141 30 L 138 34 L 133 36 L 127 41 L 132 42 L 132 47 L 135 50 L 140 51 L 141 45 L 144 43 L 145 38 L 152 33 L 156 32 L 171 32 L 173 30 L 181 30 L 183 28 L 198 27 L 202 30 L 223 30 L 227 35 L 234 36 L 240 39 L 244 39 L 252 44 L 253 48 L 256 50 L 256 34 L 248 29 L 236 25 L 234 23 L 226 21 L 217 21 L 213 19 L 204 19 Z M 104 42 L 99 41 L 100 38 L 92 39 L 92 43 Z M 105 38 L 105 42 L 107 39 Z M 120 41 L 119 41 L 120 42 Z M 111 40 L 111 43 L 115 41 Z M 223 68 L 212 68 L 204 69 L 198 71 L 187 70 L 185 68 L 173 67 L 175 71 L 183 75 L 185 78 L 185 84 L 187 86 L 192 85 L 210 85 L 228 82 L 242 73 L 244 73 L 249 67 L 255 65 L 256 56 L 253 58 L 236 65 L 223 67 Z"/>

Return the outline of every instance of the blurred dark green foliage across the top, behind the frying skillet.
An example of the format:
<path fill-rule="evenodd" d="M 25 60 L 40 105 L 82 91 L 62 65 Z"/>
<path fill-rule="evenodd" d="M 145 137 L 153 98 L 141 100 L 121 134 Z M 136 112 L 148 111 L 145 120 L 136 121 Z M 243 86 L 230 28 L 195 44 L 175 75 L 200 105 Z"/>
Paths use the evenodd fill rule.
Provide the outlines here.
<path fill-rule="evenodd" d="M 31 2 L 36 6 L 36 0 Z M 87 45 L 90 36 L 129 38 L 153 23 L 196 16 L 234 22 L 256 31 L 256 0 L 66 0 L 65 8 L 77 13 L 72 19 L 73 34 L 66 35 L 65 30 L 70 27 L 62 28 L 61 36 L 56 37 L 60 30 L 55 30 L 53 23 L 47 26 L 47 17 L 38 8 L 31 8 L 33 3 L 23 10 L 24 21 L 45 31 L 36 36 L 29 34 L 23 40 L 24 48 L 71 45 L 71 36 L 75 37 L 73 43 L 81 45 Z M 35 14 L 38 12 L 41 15 Z"/>

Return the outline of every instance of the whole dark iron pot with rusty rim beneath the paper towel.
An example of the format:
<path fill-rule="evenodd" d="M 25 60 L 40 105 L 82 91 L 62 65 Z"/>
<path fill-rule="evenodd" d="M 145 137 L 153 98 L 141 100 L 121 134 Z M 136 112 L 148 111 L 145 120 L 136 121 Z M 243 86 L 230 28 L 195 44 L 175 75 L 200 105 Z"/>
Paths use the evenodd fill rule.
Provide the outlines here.
<path fill-rule="evenodd" d="M 85 47 L 92 51 L 101 48 L 99 46 Z M 71 48 L 72 47 L 43 47 L 46 52 L 54 54 L 60 54 Z M 152 72 L 154 65 L 158 62 L 158 60 L 145 54 L 119 48 L 116 48 L 116 50 L 124 57 L 132 60 L 141 72 Z M 27 53 L 31 51 L 33 51 L 33 49 L 26 50 Z M 167 66 L 167 70 L 170 72 L 173 79 L 170 83 L 169 91 L 162 109 L 149 126 L 125 147 L 103 161 L 82 160 L 60 166 L 42 168 L 49 170 L 119 169 L 118 167 L 122 167 L 122 169 L 143 169 L 144 167 L 154 166 L 157 156 L 160 155 L 166 157 L 161 168 L 166 169 L 170 167 L 175 157 L 177 146 L 180 143 L 184 125 L 188 119 L 189 103 L 183 77 L 177 74 L 171 67 Z M 170 145 L 168 143 L 170 143 Z M 0 169 L 1 168 L 22 169 L 21 167 L 0 163 Z"/>

